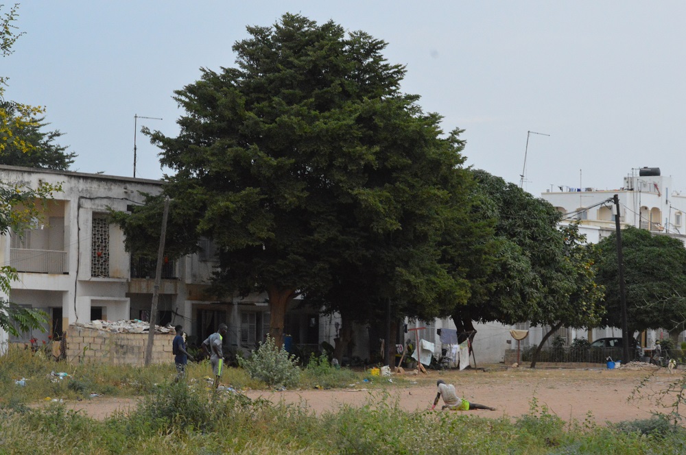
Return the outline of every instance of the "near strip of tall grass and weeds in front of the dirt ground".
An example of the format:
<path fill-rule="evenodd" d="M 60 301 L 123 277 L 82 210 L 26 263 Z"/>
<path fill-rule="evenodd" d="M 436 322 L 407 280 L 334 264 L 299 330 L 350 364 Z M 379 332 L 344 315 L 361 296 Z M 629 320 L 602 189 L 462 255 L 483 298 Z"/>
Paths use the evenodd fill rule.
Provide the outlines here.
<path fill-rule="evenodd" d="M 237 393 L 165 384 L 129 415 L 95 421 L 54 404 L 3 410 L 8 454 L 674 454 L 686 432 L 567 424 L 534 402 L 528 415 L 410 413 L 388 395 L 317 417 L 305 406 L 252 402 Z"/>

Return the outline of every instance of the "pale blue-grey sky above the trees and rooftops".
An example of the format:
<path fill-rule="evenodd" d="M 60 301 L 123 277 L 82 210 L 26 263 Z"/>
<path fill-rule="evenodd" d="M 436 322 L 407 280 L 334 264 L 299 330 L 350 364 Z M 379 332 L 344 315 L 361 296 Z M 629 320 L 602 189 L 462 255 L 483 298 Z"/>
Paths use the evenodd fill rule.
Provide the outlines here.
<path fill-rule="evenodd" d="M 466 164 L 534 195 L 616 189 L 639 167 L 686 188 L 683 1 L 23 0 L 5 99 L 47 108 L 71 170 L 132 176 L 135 141 L 136 176 L 158 179 L 136 130 L 176 136 L 174 90 L 235 66 L 246 25 L 285 12 L 388 42 L 403 92 L 464 130 Z"/>

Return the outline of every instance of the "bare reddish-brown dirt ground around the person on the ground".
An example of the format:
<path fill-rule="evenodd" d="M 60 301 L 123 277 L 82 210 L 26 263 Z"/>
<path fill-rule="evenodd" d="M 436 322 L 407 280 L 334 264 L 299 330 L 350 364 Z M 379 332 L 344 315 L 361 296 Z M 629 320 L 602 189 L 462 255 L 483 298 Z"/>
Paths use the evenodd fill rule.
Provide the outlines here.
<path fill-rule="evenodd" d="M 583 421 L 588 413 L 597 423 L 632 419 L 648 419 L 651 413 L 668 413 L 651 397 L 650 392 L 665 390 L 671 382 L 681 378 L 685 371 L 670 375 L 661 369 L 650 376 L 647 386 L 635 398 L 630 399 L 641 380 L 653 373 L 652 369 L 628 370 L 604 368 L 559 369 L 519 368 L 505 369 L 495 366 L 486 371 L 429 371 L 428 374 L 411 376 L 393 375 L 377 378 L 375 384 L 360 382 L 348 389 L 335 390 L 286 390 L 286 391 L 244 391 L 250 398 L 262 397 L 272 402 L 304 403 L 316 413 L 336 410 L 343 405 L 362 406 L 370 400 L 381 399 L 383 392 L 398 399 L 399 405 L 408 411 L 427 410 L 436 396 L 436 380 L 443 379 L 455 384 L 458 395 L 470 402 L 486 404 L 495 411 L 471 410 L 468 412 L 482 417 L 517 417 L 528 413 L 535 397 L 539 408 L 547 406 L 549 413 L 562 419 Z M 389 382 L 391 379 L 393 382 Z M 673 399 L 666 399 L 665 405 Z M 82 402 L 67 402 L 69 409 L 82 410 L 96 419 L 104 419 L 115 410 L 134 408 L 135 398 L 97 397 Z M 441 403 L 442 404 L 442 403 Z M 440 408 L 436 406 L 436 409 Z M 460 411 L 458 411 L 460 412 Z"/>

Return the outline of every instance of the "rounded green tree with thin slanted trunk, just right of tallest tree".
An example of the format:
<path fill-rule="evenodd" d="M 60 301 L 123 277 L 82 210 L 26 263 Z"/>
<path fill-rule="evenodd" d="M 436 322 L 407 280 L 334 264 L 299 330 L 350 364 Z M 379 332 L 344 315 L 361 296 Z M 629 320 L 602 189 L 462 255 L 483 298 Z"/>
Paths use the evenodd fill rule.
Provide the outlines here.
<path fill-rule="evenodd" d="M 576 227 L 560 230 L 551 204 L 500 177 L 475 171 L 475 179 L 482 196 L 475 216 L 495 219 L 496 261 L 476 269 L 469 302 L 454 308 L 458 329 L 473 332 L 473 321 L 544 325 L 538 352 L 560 327 L 597 324 L 602 288 Z"/>

